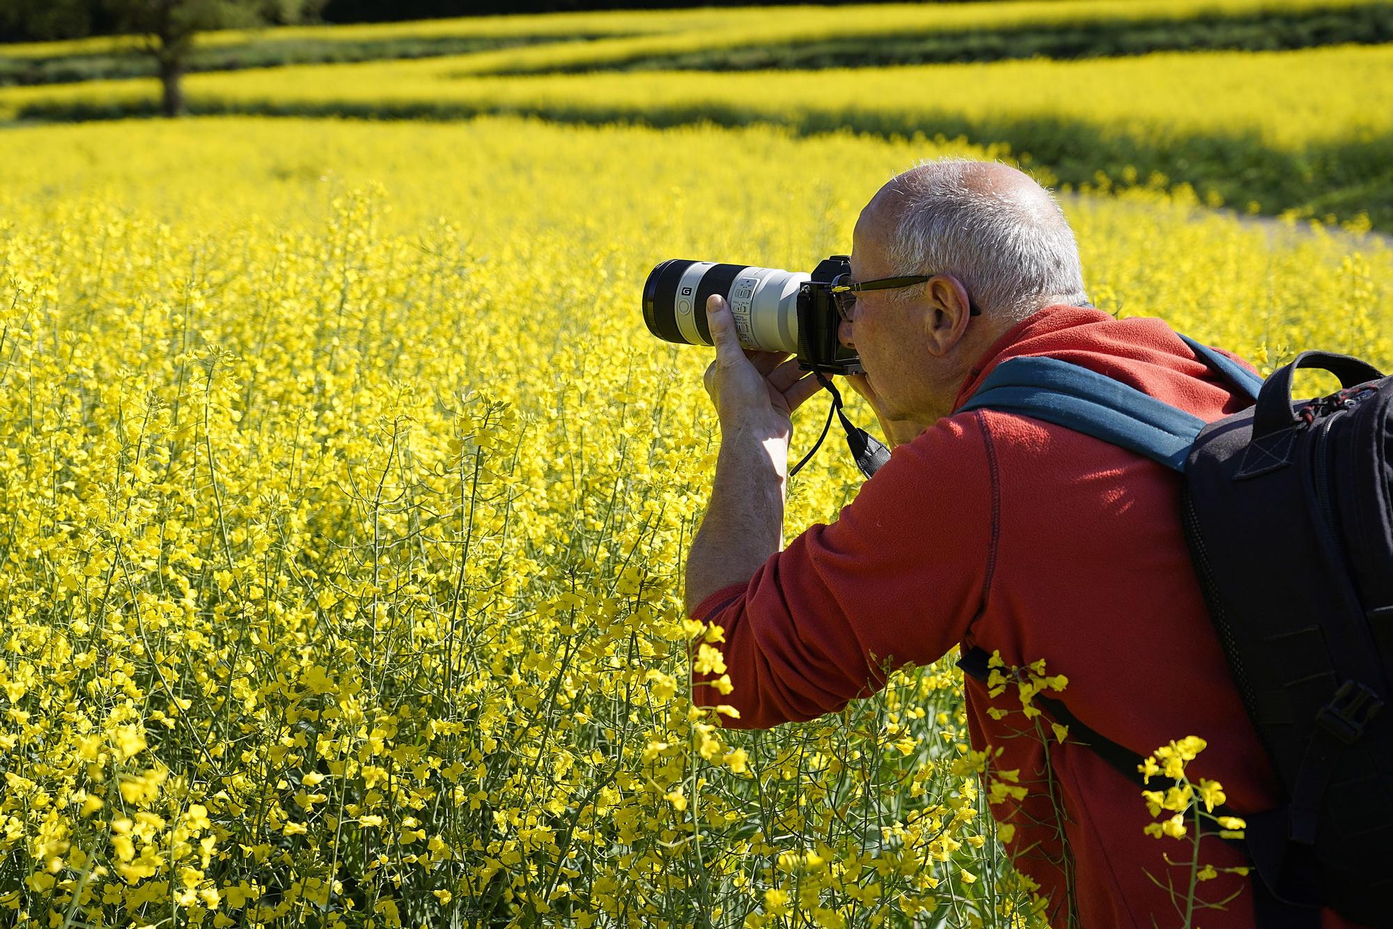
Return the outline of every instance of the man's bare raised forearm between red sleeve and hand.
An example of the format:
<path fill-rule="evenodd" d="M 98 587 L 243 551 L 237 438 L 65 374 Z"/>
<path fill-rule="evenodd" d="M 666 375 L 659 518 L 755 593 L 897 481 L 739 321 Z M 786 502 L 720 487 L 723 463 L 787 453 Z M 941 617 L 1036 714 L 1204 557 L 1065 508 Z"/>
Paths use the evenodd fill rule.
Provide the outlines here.
<path fill-rule="evenodd" d="M 710 504 L 687 556 L 687 614 L 708 596 L 744 584 L 783 547 L 788 437 L 741 426 L 722 436 Z"/>

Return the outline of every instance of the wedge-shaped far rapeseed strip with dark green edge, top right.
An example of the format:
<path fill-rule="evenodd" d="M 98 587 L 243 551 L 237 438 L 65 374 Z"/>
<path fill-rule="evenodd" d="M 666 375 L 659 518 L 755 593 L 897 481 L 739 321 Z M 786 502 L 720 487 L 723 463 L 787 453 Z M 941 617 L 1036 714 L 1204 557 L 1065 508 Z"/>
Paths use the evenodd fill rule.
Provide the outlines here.
<path fill-rule="evenodd" d="M 474 74 L 546 74 L 628 68 L 747 70 L 756 67 L 836 67 L 879 63 L 967 61 L 1031 57 L 1087 57 L 1166 49 L 1233 47 L 1256 50 L 1323 45 L 1360 32 L 1379 40 L 1387 31 L 1386 0 L 1337 7 L 1297 0 L 1273 4 L 1176 3 L 989 3 L 922 4 L 918 8 L 837 7 L 798 17 L 770 15 L 709 29 L 610 38 L 596 42 L 500 49 L 474 56 Z M 1266 21 L 1268 35 L 1252 31 Z M 1199 24 L 1198 28 L 1195 24 Z M 1174 32 L 1170 32 L 1174 25 Z M 889 42 L 880 49 L 878 43 Z M 901 45 L 903 43 L 903 45 Z M 1095 50 L 1089 50 L 1092 43 Z M 1209 45 L 1213 43 L 1213 45 Z M 1270 46 L 1269 46 L 1270 47 Z M 887 60 L 892 53 L 905 60 Z M 859 57 L 864 56 L 864 57 Z"/>

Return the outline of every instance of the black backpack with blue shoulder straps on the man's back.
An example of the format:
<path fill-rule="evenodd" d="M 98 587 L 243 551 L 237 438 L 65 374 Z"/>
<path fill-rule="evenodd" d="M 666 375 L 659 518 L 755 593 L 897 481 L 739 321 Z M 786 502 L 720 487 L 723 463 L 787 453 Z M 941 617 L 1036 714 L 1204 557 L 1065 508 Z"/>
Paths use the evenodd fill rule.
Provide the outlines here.
<path fill-rule="evenodd" d="M 1263 382 L 1181 338 L 1256 403 L 1206 425 L 1077 365 L 1011 358 L 960 411 L 1042 419 L 1183 472 L 1191 560 L 1284 791 L 1244 816 L 1258 923 L 1318 926 L 1326 905 L 1393 925 L 1393 713 L 1380 712 L 1393 696 L 1393 377 L 1307 351 Z M 1343 390 L 1293 403 L 1298 368 Z M 960 666 L 985 680 L 986 659 L 972 649 Z M 1035 699 L 1139 788 L 1141 756 Z"/>

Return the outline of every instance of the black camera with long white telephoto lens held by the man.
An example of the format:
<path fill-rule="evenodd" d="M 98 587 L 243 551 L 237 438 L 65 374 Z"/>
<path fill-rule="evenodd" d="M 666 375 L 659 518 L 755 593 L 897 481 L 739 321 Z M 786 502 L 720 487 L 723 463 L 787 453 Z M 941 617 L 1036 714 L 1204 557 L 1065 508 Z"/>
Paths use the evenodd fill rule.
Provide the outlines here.
<path fill-rule="evenodd" d="M 847 255 L 823 259 L 811 274 L 674 258 L 644 283 L 644 322 L 666 341 L 710 345 L 706 298 L 720 294 L 745 348 L 790 352 L 804 370 L 859 375 L 859 355 L 837 340 L 841 318 L 832 294 L 833 281 L 850 273 Z"/>

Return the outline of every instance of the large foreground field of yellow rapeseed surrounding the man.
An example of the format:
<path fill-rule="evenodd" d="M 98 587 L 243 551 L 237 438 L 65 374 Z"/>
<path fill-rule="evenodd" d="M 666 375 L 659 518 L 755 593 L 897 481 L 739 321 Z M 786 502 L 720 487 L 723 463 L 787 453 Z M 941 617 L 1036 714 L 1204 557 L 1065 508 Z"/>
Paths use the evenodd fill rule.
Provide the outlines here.
<path fill-rule="evenodd" d="M 1038 925 L 951 666 L 768 733 L 691 706 L 706 355 L 638 312 L 664 258 L 846 251 L 942 153 L 992 155 L 521 118 L 0 134 L 0 922 Z M 1184 188 L 1066 206 L 1099 306 L 1263 369 L 1393 365 L 1376 237 Z M 854 476 L 825 448 L 788 531 Z"/>

